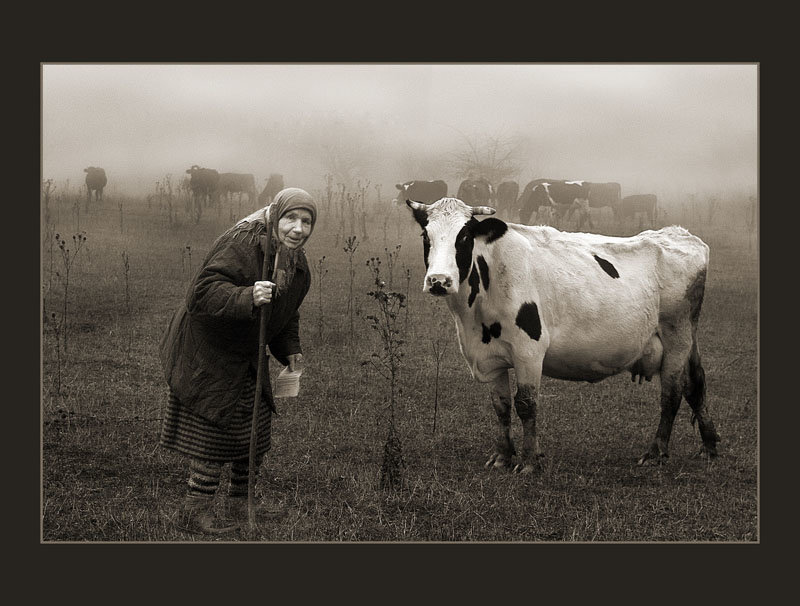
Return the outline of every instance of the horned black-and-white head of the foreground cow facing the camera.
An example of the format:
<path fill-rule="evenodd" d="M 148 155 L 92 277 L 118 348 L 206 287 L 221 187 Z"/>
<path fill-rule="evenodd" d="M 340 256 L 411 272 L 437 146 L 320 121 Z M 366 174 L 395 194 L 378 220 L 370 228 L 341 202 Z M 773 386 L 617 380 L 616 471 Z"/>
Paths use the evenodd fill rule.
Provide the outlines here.
<path fill-rule="evenodd" d="M 469 206 L 457 198 L 442 198 L 433 204 L 407 200 L 414 219 L 422 227 L 422 251 L 427 273 L 422 290 L 444 296 L 458 287 L 472 267 L 475 238 L 487 241 L 502 236 L 508 226 L 498 219 L 478 221 L 475 215 L 493 215 L 490 206 Z"/>

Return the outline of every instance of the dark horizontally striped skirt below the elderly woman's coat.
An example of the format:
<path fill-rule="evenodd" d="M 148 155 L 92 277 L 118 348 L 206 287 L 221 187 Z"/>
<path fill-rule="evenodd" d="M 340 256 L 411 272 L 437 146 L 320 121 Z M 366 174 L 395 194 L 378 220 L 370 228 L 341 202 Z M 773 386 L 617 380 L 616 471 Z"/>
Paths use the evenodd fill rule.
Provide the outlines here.
<path fill-rule="evenodd" d="M 264 387 L 270 389 L 269 383 Z M 271 394 L 265 395 L 267 398 L 271 397 Z M 159 444 L 205 461 L 226 463 L 247 459 L 250 456 L 254 398 L 253 380 L 244 390 L 230 425 L 222 428 L 183 406 L 170 390 Z M 257 457 L 264 456 L 270 449 L 271 434 L 272 411 L 262 398 L 258 409 Z"/>

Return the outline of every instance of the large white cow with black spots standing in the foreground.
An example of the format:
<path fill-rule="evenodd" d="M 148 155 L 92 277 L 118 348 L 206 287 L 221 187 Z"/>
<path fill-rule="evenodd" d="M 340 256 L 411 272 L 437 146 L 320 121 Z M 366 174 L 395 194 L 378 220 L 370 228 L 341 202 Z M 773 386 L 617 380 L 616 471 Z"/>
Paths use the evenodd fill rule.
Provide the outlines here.
<path fill-rule="evenodd" d="M 639 463 L 666 459 L 682 397 L 699 424 L 701 453 L 716 456 L 697 345 L 709 252 L 700 238 L 676 226 L 620 238 L 478 221 L 495 210 L 456 198 L 407 204 L 423 228 L 423 289 L 445 297 L 473 378 L 492 383 L 499 425 L 487 467 L 512 465 L 513 397 L 523 426 L 514 471 L 533 470 L 543 374 L 589 382 L 623 371 L 640 382 L 659 375 L 661 420 Z"/>

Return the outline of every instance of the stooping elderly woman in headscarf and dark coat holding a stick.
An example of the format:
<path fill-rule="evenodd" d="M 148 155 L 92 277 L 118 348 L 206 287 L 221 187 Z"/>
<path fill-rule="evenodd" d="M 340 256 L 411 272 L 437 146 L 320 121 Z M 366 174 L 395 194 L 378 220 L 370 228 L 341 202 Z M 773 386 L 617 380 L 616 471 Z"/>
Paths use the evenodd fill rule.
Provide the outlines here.
<path fill-rule="evenodd" d="M 304 190 L 281 190 L 272 204 L 222 234 L 175 312 L 161 342 L 169 399 L 160 444 L 189 458 L 188 491 L 178 526 L 226 533 L 247 515 L 250 437 L 258 367 L 260 306 L 267 308 L 269 352 L 289 370 L 302 364 L 298 308 L 311 275 L 303 245 L 317 207 Z M 263 246 L 271 238 L 270 281 L 262 281 Z M 266 358 L 268 360 L 268 358 Z M 272 390 L 268 364 L 257 415 L 256 470 L 270 448 Z M 222 466 L 231 463 L 227 513 L 213 499 Z M 261 513 L 269 506 L 261 506 Z M 256 513 L 259 513 L 258 509 Z M 233 519 L 228 519 L 233 514 Z"/>

